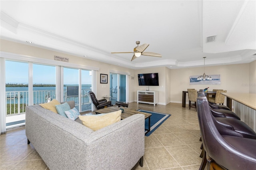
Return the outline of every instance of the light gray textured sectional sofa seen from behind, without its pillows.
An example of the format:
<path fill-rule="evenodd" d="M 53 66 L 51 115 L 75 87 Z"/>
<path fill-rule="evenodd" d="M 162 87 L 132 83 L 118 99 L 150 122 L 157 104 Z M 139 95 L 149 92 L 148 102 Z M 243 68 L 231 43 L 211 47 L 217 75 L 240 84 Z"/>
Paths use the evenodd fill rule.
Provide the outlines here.
<path fill-rule="evenodd" d="M 74 103 L 70 102 L 71 109 Z M 144 115 L 93 131 L 44 109 L 26 107 L 26 136 L 50 170 L 130 170 L 144 155 Z"/>

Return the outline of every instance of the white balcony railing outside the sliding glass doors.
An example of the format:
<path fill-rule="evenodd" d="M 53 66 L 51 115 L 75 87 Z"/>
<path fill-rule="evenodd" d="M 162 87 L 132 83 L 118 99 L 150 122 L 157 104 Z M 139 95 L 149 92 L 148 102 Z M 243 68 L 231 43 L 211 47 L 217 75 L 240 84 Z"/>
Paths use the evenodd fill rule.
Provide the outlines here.
<path fill-rule="evenodd" d="M 90 103 L 88 97 L 88 91 L 91 89 L 82 89 L 82 105 Z M 78 105 L 79 98 L 67 97 L 66 90 L 64 90 L 64 101 L 75 101 L 75 105 Z M 56 99 L 55 90 L 46 91 L 33 91 L 33 103 L 38 105 L 40 103 L 47 103 L 52 99 Z M 8 91 L 6 92 L 6 116 L 18 115 L 25 113 L 25 107 L 28 105 L 28 91 Z M 87 107 L 88 108 L 88 107 Z"/>

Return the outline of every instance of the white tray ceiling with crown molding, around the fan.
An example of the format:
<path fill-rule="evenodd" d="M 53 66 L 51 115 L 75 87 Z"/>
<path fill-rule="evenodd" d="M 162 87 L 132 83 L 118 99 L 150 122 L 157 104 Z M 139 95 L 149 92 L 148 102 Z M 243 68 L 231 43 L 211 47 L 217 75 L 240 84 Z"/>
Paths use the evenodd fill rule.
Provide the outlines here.
<path fill-rule="evenodd" d="M 0 1 L 1 39 L 140 69 L 250 63 L 256 1 Z M 216 36 L 206 43 L 206 37 Z M 33 42 L 31 44 L 26 41 Z M 136 41 L 162 57 L 133 51 Z"/>

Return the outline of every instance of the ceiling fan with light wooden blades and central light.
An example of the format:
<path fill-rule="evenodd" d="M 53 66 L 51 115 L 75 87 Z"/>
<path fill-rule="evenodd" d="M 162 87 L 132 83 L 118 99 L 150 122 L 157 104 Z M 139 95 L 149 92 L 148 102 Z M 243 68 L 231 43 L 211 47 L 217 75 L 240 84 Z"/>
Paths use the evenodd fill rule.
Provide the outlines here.
<path fill-rule="evenodd" d="M 134 53 L 134 55 L 132 57 L 132 60 L 136 59 L 137 57 L 140 57 L 140 55 L 147 55 L 147 56 L 153 56 L 153 57 L 162 57 L 162 55 L 158 54 L 158 53 L 144 52 L 149 44 L 144 43 L 144 44 L 139 46 L 139 44 L 140 44 L 139 41 L 136 41 L 136 44 L 137 44 L 137 47 L 134 47 L 133 52 L 111 52 L 111 53 Z"/>

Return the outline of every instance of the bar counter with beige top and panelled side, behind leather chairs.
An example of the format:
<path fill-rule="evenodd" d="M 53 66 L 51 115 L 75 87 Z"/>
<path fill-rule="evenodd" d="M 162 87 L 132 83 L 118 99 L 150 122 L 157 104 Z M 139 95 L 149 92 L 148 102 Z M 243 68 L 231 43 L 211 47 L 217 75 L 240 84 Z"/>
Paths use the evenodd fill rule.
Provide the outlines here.
<path fill-rule="evenodd" d="M 230 108 L 234 100 L 234 113 L 256 132 L 256 94 L 222 93 L 222 95 L 227 97 L 227 106 Z"/>

